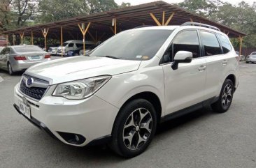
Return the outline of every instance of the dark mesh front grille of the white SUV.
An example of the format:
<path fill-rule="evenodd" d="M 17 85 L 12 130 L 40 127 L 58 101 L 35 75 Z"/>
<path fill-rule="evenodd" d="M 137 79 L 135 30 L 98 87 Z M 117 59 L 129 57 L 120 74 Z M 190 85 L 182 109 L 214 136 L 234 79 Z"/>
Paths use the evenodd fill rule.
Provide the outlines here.
<path fill-rule="evenodd" d="M 39 88 L 39 87 L 29 88 L 26 86 L 25 82 L 21 80 L 20 91 L 31 98 L 34 98 L 36 100 L 41 100 L 41 98 L 43 97 L 43 94 L 46 91 L 46 88 Z"/>

